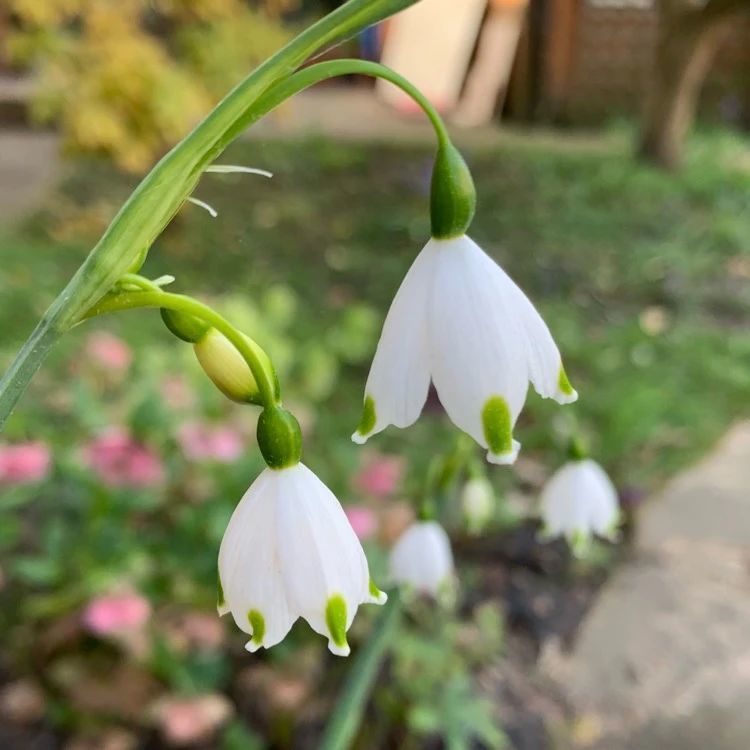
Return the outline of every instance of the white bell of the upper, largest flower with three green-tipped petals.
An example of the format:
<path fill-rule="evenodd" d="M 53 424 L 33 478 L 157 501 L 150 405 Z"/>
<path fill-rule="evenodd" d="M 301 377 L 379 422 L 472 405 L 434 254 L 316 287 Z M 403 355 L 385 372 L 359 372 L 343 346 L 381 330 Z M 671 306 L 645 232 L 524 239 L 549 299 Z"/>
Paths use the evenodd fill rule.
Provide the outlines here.
<path fill-rule="evenodd" d="M 448 416 L 513 463 L 513 427 L 529 382 L 561 404 L 578 397 L 546 324 L 526 295 L 466 235 L 431 239 L 417 256 L 386 317 L 365 387 L 364 443 L 389 424 L 419 417 L 430 379 Z"/>

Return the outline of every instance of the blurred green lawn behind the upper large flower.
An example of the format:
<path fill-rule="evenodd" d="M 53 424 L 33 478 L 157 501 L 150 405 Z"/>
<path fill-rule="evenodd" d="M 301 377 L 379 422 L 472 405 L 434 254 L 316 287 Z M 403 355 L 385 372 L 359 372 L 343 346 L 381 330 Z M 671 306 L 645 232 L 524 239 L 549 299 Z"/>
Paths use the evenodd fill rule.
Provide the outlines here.
<path fill-rule="evenodd" d="M 562 460 L 576 419 L 621 485 L 651 488 L 750 413 L 750 155 L 742 143 L 698 139 L 678 175 L 636 164 L 620 138 L 592 146 L 514 137 L 470 150 L 468 160 L 480 198 L 472 234 L 543 311 L 581 394 L 565 409 L 530 394 L 516 429 L 526 455 Z M 293 345 L 309 346 L 322 332 L 335 337 L 355 304 L 373 307 L 379 325 L 428 235 L 431 151 L 245 142 L 224 161 L 276 176 L 207 176 L 197 196 L 219 218 L 185 207 L 145 272 L 172 273 L 175 288 L 198 296 L 258 299 L 283 283 L 298 298 Z M 128 189 L 108 168 L 79 164 L 44 210 L 0 237 L 6 355 L 95 238 L 71 207 L 114 210 Z M 51 231 L 68 238 L 53 241 Z M 118 327 L 137 347 L 162 345 L 152 318 Z M 357 424 L 373 346 L 370 336 L 369 351 L 344 361 L 318 405 L 312 451 L 321 460 L 351 460 L 333 438 L 343 445 Z M 44 382 L 60 361 L 53 358 Z M 19 411 L 32 408 L 27 401 Z M 421 467 L 450 435 L 434 410 L 416 428 L 377 440 Z"/>

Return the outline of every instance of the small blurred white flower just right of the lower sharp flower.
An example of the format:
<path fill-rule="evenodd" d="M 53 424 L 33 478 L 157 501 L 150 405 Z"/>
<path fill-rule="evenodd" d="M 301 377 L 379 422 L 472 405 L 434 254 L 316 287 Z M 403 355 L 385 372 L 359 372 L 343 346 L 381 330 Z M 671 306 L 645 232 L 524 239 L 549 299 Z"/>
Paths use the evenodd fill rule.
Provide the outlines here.
<path fill-rule="evenodd" d="M 398 538 L 388 559 L 390 577 L 420 594 L 439 596 L 453 579 L 453 553 L 437 521 L 416 521 Z"/>

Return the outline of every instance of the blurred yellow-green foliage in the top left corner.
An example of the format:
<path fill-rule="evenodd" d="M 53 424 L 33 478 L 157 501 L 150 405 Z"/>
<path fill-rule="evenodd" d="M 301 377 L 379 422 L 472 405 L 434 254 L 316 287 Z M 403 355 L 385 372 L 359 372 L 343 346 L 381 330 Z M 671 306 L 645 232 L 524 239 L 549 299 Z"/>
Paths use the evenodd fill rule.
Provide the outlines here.
<path fill-rule="evenodd" d="M 35 73 L 32 115 L 72 153 L 140 171 L 287 39 L 243 0 L 11 0 L 8 52 Z"/>

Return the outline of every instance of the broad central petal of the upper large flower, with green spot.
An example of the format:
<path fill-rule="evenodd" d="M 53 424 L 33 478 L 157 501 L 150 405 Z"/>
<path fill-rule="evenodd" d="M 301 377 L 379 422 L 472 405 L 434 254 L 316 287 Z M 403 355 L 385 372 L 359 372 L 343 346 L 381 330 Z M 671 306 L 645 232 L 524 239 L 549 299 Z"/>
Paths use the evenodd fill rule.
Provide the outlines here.
<path fill-rule="evenodd" d="M 448 416 L 495 463 L 512 463 L 511 436 L 528 390 L 526 332 L 513 282 L 468 237 L 433 240 L 430 367 Z"/>

